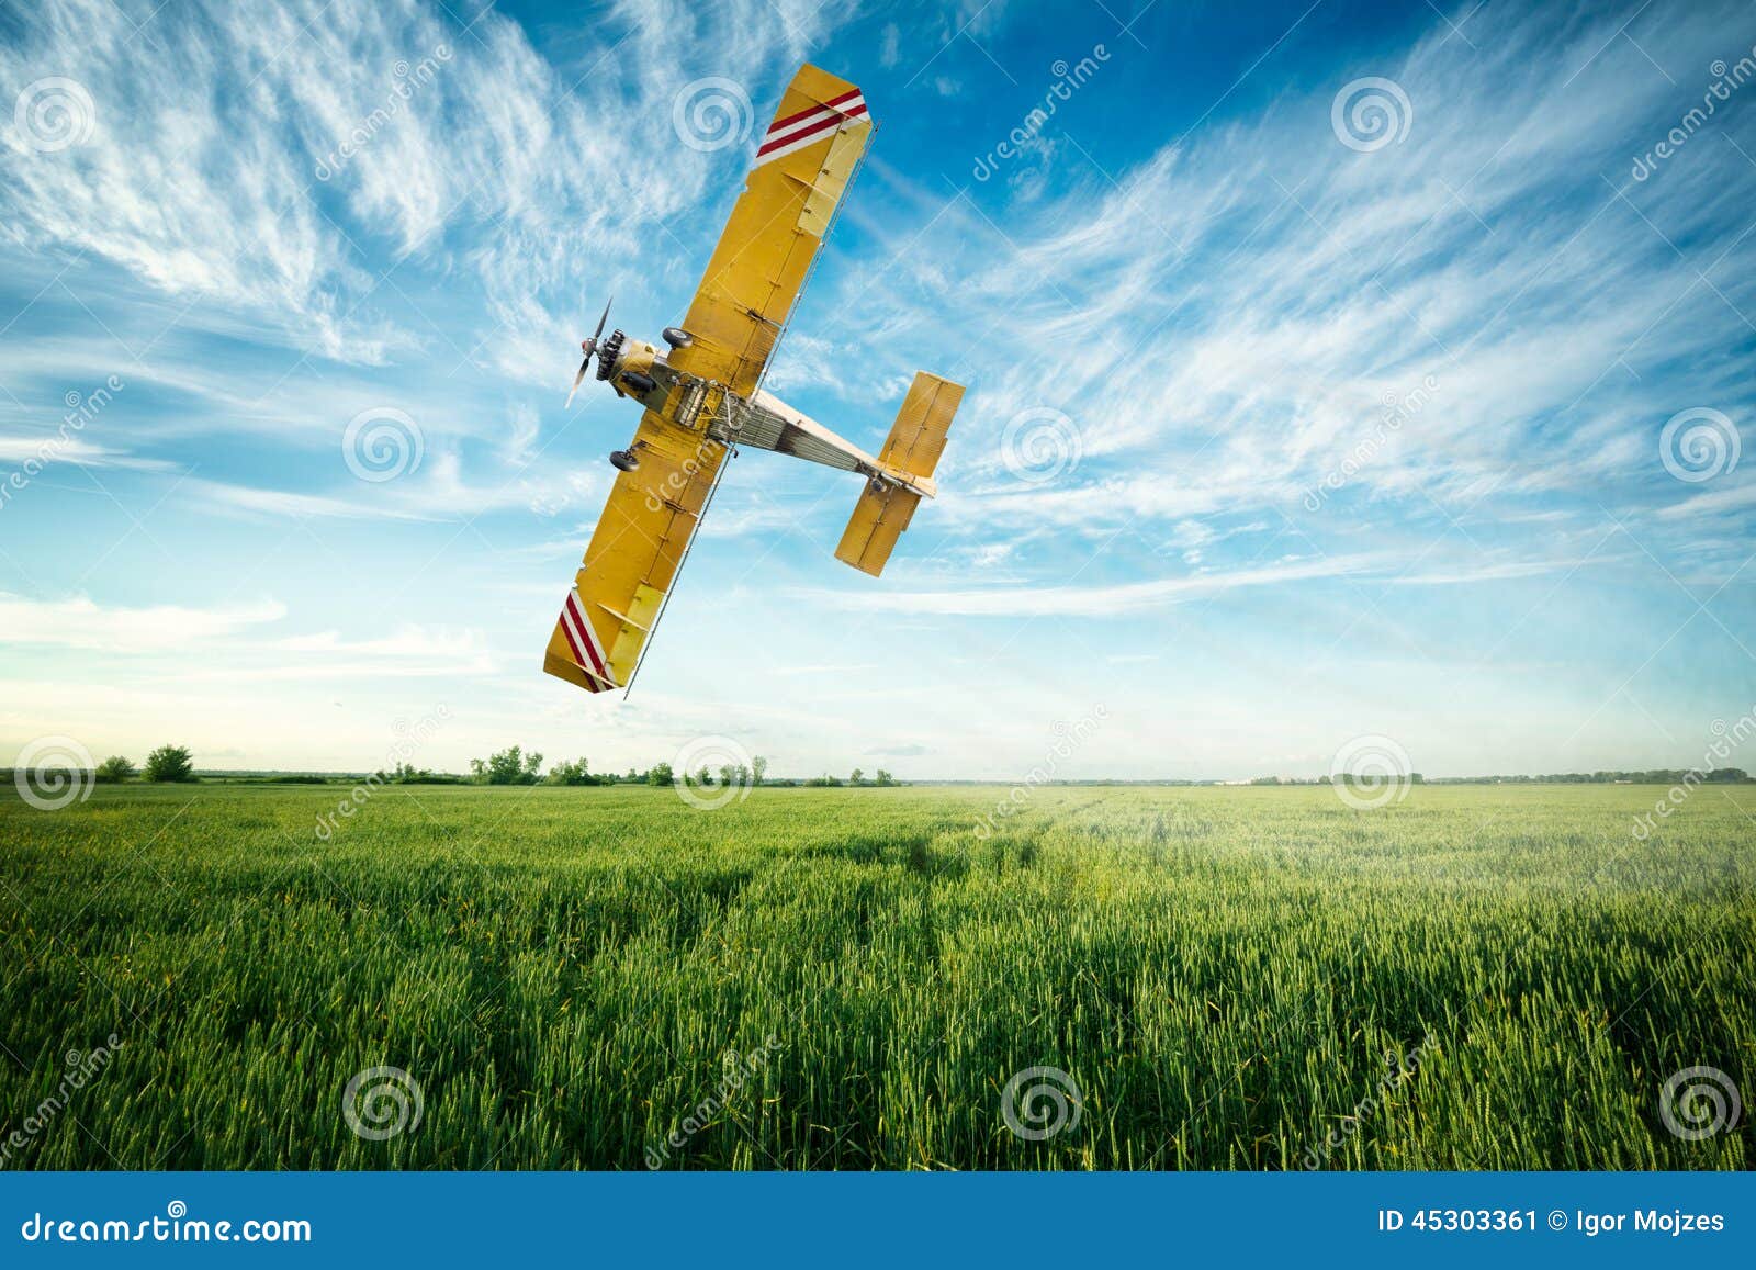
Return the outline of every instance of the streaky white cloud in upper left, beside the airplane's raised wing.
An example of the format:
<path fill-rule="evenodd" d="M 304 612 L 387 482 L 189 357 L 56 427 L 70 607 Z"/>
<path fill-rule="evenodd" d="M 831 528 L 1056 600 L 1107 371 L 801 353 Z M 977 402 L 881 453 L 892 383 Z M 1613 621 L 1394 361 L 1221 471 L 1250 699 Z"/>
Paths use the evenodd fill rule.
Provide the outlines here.
<path fill-rule="evenodd" d="M 49 0 L 0 46 L 0 83 L 76 67 L 93 130 L 39 153 L 7 112 L 0 209 L 26 246 L 77 248 L 363 364 L 416 339 L 385 314 L 420 288 L 369 267 L 388 244 L 416 278 L 472 274 L 476 337 L 506 332 L 490 355 L 553 374 L 529 350 L 576 339 L 581 279 L 636 258 L 716 174 L 692 153 L 648 162 L 651 133 L 673 149 L 673 93 L 730 69 L 762 100 L 752 72 L 839 7 L 625 4 L 599 19 L 613 51 L 558 69 L 492 7 L 464 23 L 423 0 L 167 5 L 135 33 L 109 0 Z"/>

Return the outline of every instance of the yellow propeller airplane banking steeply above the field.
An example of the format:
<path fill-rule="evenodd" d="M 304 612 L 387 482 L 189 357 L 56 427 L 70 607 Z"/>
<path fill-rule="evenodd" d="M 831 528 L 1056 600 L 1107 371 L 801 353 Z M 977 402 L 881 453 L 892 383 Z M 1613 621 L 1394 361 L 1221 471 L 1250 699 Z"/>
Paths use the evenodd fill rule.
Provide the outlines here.
<path fill-rule="evenodd" d="M 762 374 L 853 177 L 873 119 L 860 90 L 801 67 L 762 135 L 755 167 L 667 350 L 611 330 L 579 348 L 572 388 L 597 378 L 644 408 L 543 655 L 543 669 L 590 692 L 634 680 L 666 595 L 720 481 L 727 451 L 773 450 L 859 473 L 866 488 L 836 559 L 873 576 L 922 497 L 962 400 L 961 385 L 915 376 L 883 450 L 873 457 L 762 392 Z M 572 393 L 567 395 L 572 400 Z"/>

